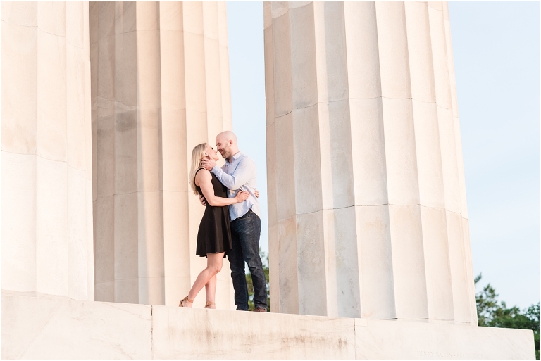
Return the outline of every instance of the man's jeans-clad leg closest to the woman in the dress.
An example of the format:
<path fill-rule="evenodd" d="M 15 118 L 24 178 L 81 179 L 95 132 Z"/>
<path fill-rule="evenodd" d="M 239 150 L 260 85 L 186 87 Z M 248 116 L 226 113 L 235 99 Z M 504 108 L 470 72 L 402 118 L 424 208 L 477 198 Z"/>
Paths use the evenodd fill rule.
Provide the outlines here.
<path fill-rule="evenodd" d="M 236 232 L 238 226 L 237 220 L 231 222 L 231 239 L 233 249 L 228 252 L 229 265 L 231 267 L 231 279 L 233 289 L 235 289 L 235 305 L 237 310 L 248 310 L 248 286 L 246 284 L 246 274 L 244 273 L 244 256 L 242 255 L 242 246 L 239 234 Z"/>

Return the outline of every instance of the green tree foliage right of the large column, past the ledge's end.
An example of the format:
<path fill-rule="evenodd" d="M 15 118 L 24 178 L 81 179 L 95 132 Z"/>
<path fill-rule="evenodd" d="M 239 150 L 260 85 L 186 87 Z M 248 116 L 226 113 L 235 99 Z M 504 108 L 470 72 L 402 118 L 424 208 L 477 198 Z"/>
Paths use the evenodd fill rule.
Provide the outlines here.
<path fill-rule="evenodd" d="M 475 286 L 477 286 L 480 279 L 481 274 L 475 277 Z M 539 360 L 540 303 L 538 302 L 537 305 L 531 305 L 529 308 L 521 310 L 516 306 L 507 308 L 504 301 L 498 304 L 497 297 L 496 290 L 490 284 L 487 284 L 483 291 L 475 295 L 479 326 L 532 330 L 535 343 L 535 359 Z"/>

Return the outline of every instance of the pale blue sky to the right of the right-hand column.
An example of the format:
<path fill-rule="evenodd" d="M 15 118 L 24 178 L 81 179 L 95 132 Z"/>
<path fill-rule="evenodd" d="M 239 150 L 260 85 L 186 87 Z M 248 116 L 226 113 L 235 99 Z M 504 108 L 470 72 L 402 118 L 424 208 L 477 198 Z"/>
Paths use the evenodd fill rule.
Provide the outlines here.
<path fill-rule="evenodd" d="M 507 305 L 540 298 L 540 3 L 449 2 L 471 251 Z"/>

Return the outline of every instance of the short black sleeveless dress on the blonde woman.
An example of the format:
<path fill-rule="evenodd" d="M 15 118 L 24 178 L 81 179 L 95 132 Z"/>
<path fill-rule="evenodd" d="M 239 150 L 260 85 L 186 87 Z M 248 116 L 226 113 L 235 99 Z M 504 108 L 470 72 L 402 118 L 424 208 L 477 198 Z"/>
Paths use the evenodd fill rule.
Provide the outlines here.
<path fill-rule="evenodd" d="M 199 168 L 199 170 L 204 168 Z M 199 172 L 197 170 L 197 172 Z M 195 174 L 197 175 L 197 172 Z M 228 198 L 228 189 L 216 178 L 212 176 L 212 186 L 214 188 L 214 196 Z M 197 192 L 203 196 L 203 192 L 199 186 L 195 187 Z M 229 208 L 227 205 L 223 207 L 213 207 L 206 201 L 205 213 L 199 224 L 197 232 L 197 247 L 195 254 L 201 257 L 206 257 L 207 253 L 222 253 L 231 251 L 233 243 L 231 241 L 231 227 L 229 220 Z M 224 255 L 225 257 L 225 255 Z"/>

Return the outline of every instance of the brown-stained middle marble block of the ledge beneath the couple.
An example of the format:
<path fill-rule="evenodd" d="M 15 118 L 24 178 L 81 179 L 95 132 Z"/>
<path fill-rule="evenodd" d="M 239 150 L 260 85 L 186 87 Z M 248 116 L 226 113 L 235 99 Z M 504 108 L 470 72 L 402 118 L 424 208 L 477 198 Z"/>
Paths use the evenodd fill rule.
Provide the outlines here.
<path fill-rule="evenodd" d="M 353 319 L 153 306 L 157 360 L 343 360 Z"/>

